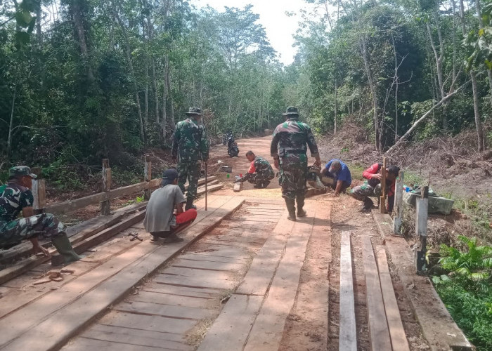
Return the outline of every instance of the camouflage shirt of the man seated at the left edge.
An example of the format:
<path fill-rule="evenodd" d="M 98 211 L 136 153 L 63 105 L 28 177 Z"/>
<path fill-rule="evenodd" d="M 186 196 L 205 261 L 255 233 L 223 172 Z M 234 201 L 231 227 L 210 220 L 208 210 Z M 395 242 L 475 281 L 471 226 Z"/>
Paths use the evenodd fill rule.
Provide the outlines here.
<path fill-rule="evenodd" d="M 0 186 L 0 222 L 10 222 L 34 202 L 31 190 L 13 182 Z"/>

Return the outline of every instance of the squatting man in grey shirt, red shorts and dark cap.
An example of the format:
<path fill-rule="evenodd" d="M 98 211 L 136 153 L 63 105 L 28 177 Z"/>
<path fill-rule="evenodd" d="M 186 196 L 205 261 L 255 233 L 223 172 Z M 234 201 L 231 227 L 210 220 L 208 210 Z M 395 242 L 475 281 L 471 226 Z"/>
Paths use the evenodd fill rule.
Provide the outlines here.
<path fill-rule="evenodd" d="M 166 242 L 183 241 L 176 235 L 176 229 L 197 218 L 195 208 L 183 211 L 183 204 L 186 200 L 181 188 L 177 185 L 178 178 L 176 169 L 167 169 L 162 173 L 160 188 L 150 195 L 143 225 L 145 230 L 153 235 L 154 240 L 162 237 L 166 239 Z M 176 215 L 174 214 L 175 209 Z"/>

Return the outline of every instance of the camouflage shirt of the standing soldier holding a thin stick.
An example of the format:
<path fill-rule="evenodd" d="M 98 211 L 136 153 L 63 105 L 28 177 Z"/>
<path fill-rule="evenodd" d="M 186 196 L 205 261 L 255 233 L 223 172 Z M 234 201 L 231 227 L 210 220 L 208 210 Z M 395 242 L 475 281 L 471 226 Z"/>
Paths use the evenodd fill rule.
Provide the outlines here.
<path fill-rule="evenodd" d="M 209 143 L 205 126 L 194 119 L 187 118 L 176 124 L 172 155 L 179 156 L 180 161 L 207 161 L 209 158 Z"/>

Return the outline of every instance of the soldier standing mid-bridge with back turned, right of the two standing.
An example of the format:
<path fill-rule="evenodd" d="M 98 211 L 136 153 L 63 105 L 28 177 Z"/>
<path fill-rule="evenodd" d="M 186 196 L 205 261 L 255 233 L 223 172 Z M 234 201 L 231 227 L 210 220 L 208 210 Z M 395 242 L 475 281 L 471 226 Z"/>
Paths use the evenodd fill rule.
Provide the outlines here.
<path fill-rule="evenodd" d="M 275 168 L 280 169 L 278 183 L 282 187 L 290 220 L 296 220 L 295 200 L 297 199 L 297 217 L 306 216 L 304 197 L 306 195 L 307 147 L 314 157 L 315 166 L 321 166 L 318 147 L 311 128 L 299 121 L 297 107 L 287 107 L 283 114 L 285 122 L 273 131 L 271 156 L 275 160 Z"/>

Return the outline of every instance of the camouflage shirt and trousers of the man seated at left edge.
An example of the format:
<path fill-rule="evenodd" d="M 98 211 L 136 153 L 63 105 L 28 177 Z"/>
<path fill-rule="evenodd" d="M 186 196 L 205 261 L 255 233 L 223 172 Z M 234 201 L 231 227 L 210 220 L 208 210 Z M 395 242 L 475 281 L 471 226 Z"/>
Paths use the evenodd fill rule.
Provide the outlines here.
<path fill-rule="evenodd" d="M 65 226 L 51 213 L 16 219 L 22 208 L 32 207 L 31 190 L 12 180 L 0 187 L 0 245 L 12 246 L 31 237 L 65 235 Z"/>

